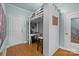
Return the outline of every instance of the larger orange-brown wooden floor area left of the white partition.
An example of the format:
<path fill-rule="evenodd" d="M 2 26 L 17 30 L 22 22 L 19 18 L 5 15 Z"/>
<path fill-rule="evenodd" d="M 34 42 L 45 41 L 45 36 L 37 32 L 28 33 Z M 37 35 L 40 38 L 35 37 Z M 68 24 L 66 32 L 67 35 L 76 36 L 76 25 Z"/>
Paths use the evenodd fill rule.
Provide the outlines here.
<path fill-rule="evenodd" d="M 7 56 L 41 56 L 41 51 L 37 51 L 37 44 L 19 44 L 7 49 Z"/>

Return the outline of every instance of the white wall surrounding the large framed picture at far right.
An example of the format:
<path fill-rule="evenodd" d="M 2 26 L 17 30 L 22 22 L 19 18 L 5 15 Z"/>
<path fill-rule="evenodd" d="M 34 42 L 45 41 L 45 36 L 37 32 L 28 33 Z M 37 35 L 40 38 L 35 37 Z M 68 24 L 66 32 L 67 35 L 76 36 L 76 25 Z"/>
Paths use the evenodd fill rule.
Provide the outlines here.
<path fill-rule="evenodd" d="M 64 48 L 79 54 L 79 44 L 71 42 L 71 18 L 79 17 L 79 11 L 64 14 Z M 66 35 L 68 33 L 68 35 Z"/>

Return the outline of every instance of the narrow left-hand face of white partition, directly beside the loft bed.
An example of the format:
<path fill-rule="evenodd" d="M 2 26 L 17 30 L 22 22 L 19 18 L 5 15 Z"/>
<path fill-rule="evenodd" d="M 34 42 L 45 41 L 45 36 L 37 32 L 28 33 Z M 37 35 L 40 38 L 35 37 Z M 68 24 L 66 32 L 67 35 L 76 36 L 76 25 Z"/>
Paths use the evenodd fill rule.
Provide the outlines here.
<path fill-rule="evenodd" d="M 44 18 L 43 18 L 43 55 L 49 55 L 49 6 L 44 5 Z"/>

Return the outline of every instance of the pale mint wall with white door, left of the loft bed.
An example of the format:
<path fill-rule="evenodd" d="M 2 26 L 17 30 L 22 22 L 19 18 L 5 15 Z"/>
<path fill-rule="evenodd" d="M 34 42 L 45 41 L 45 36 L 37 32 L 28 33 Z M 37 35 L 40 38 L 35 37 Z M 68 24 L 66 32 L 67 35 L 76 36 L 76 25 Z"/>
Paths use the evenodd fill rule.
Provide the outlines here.
<path fill-rule="evenodd" d="M 6 38 L 1 50 L 5 49 L 5 47 L 10 47 L 15 44 L 27 42 L 27 23 L 28 18 L 32 13 L 28 10 L 10 4 L 4 4 L 3 7 L 6 16 Z M 22 32 L 22 34 L 19 34 L 19 31 Z M 23 36 L 24 38 L 22 39 L 21 36 Z"/>

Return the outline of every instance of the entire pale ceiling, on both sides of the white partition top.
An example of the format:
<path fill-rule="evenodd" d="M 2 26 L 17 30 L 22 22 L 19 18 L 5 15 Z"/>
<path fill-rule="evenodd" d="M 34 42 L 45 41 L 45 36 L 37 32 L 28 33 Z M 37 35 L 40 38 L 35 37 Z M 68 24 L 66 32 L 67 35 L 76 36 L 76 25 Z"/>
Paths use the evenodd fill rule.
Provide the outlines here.
<path fill-rule="evenodd" d="M 17 7 L 29 10 L 31 12 L 39 9 L 43 3 L 10 3 Z M 79 10 L 79 3 L 54 3 L 62 13 Z"/>

